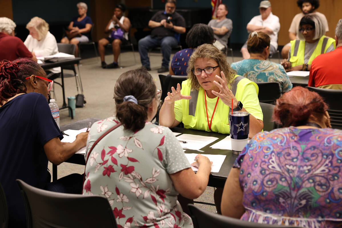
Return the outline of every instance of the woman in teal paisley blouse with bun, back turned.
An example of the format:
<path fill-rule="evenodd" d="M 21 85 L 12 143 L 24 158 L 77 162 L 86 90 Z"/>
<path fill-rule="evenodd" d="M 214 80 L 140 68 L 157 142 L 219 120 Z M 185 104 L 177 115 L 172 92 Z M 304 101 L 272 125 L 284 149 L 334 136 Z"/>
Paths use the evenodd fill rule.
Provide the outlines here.
<path fill-rule="evenodd" d="M 268 61 L 270 38 L 264 32 L 252 32 L 247 41 L 247 50 L 251 57 L 232 63 L 231 67 L 238 75 L 253 82 L 278 82 L 281 93 L 292 89 L 292 83 L 283 66 Z"/>

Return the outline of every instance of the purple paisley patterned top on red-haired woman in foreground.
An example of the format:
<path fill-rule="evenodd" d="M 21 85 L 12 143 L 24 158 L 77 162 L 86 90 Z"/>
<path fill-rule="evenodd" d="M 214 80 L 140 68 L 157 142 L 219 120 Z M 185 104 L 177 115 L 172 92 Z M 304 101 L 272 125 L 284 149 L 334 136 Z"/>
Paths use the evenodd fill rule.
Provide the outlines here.
<path fill-rule="evenodd" d="M 246 209 L 242 220 L 302 227 L 342 226 L 342 131 L 261 132 L 234 167 Z"/>

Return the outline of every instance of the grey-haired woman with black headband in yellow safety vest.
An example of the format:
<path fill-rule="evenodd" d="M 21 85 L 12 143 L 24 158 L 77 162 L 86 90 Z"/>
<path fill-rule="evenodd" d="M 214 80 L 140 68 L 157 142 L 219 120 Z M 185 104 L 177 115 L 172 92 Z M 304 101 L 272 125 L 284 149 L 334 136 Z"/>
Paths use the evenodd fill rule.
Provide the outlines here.
<path fill-rule="evenodd" d="M 281 62 L 286 71 L 310 71 L 314 58 L 336 48 L 335 40 L 324 36 L 325 25 L 316 14 L 305 15 L 301 19 L 298 29 L 300 40 L 291 40 L 289 58 L 283 59 Z"/>

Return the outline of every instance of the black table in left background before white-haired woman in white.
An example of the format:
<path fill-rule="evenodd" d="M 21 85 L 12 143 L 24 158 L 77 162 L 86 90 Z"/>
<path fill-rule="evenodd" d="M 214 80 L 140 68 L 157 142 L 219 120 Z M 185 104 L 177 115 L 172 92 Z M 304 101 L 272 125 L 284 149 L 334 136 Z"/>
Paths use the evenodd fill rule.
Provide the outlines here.
<path fill-rule="evenodd" d="M 61 60 L 61 61 L 57 61 L 57 62 L 54 62 L 54 63 L 47 63 L 47 62 L 43 62 L 42 64 L 39 64 L 44 70 L 47 70 L 47 69 L 51 69 L 51 68 L 54 68 L 54 67 L 61 67 L 61 79 L 62 79 L 62 84 L 61 87 L 62 87 L 62 94 L 63 94 L 63 105 L 62 107 L 60 107 L 60 110 L 61 109 L 64 109 L 64 108 L 68 108 L 70 110 L 70 113 L 71 113 L 71 119 L 74 119 L 74 115 L 73 115 L 73 109 L 71 109 L 70 106 L 68 106 L 66 104 L 66 101 L 65 101 L 65 91 L 64 91 L 64 74 L 63 74 L 63 67 L 64 66 L 70 66 L 70 65 L 74 65 L 74 64 L 79 64 L 80 63 L 80 60 L 81 58 L 79 57 L 76 57 L 76 58 L 71 58 L 71 59 L 64 59 L 64 60 Z M 78 69 L 79 71 L 79 69 Z M 58 83 L 59 84 L 59 83 Z M 81 85 L 80 85 L 81 86 Z"/>

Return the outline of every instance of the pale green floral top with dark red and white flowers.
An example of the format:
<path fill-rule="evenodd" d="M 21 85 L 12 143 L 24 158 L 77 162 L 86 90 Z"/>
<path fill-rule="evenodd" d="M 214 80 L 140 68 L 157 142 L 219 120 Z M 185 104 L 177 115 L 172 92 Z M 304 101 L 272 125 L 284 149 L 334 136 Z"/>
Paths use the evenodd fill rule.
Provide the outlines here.
<path fill-rule="evenodd" d="M 92 125 L 86 157 L 96 139 L 117 123 L 110 117 Z M 143 129 L 132 132 L 121 125 L 91 151 L 83 195 L 107 198 L 118 228 L 192 228 L 169 176 L 189 167 L 169 128 L 146 122 Z"/>

